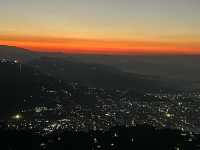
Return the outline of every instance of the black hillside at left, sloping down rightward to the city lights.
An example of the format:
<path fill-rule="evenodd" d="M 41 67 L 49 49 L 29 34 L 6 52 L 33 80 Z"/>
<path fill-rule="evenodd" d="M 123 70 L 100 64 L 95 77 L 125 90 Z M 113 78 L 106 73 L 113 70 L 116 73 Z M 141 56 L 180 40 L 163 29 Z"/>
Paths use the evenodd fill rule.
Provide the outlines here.
<path fill-rule="evenodd" d="M 28 117 L 31 119 L 36 107 L 56 109 L 62 106 L 65 112 L 70 112 L 77 105 L 92 109 L 97 101 L 94 95 L 88 94 L 87 87 L 56 79 L 26 64 L 0 60 L 0 71 L 0 120 L 24 110 L 32 112 Z M 44 117 L 62 117 L 54 111 L 52 114 Z"/>

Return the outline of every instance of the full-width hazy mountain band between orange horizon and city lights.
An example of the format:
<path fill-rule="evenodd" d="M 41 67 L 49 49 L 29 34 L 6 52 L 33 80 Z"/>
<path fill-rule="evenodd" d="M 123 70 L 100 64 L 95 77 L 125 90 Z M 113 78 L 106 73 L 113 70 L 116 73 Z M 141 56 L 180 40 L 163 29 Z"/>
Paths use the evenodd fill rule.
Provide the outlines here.
<path fill-rule="evenodd" d="M 67 55 L 0 46 L 0 58 L 17 59 L 55 78 L 89 87 L 200 87 L 200 56 Z"/>

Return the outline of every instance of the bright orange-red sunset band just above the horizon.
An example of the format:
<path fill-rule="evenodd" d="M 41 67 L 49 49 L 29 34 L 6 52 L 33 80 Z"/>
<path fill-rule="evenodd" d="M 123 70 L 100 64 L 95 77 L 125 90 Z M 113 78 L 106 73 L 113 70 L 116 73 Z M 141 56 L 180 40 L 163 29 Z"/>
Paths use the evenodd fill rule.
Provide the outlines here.
<path fill-rule="evenodd" d="M 92 54 L 200 54 L 200 45 L 192 42 L 123 41 L 94 39 L 18 39 L 0 40 L 34 51 Z"/>

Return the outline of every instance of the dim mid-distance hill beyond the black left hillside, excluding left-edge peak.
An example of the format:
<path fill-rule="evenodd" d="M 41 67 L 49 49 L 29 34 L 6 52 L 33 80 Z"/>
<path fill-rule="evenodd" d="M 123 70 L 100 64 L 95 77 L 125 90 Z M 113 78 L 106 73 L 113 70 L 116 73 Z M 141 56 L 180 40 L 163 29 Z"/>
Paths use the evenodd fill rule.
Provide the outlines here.
<path fill-rule="evenodd" d="M 82 85 L 105 89 L 159 89 L 159 79 L 123 72 L 101 64 L 74 62 L 55 57 L 41 57 L 28 63 L 41 72 Z M 164 87 L 164 86 L 163 86 Z"/>

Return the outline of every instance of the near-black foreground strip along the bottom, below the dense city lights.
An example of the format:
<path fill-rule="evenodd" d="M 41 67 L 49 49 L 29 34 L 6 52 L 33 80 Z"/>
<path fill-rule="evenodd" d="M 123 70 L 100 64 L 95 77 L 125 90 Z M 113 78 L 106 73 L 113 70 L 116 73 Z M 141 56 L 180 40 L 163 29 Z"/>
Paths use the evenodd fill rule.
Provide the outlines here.
<path fill-rule="evenodd" d="M 1 129 L 2 150 L 199 150 L 200 137 L 178 130 L 149 126 L 115 127 L 109 131 L 54 133 Z"/>

